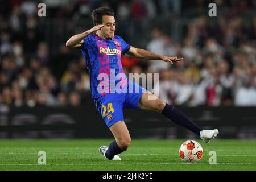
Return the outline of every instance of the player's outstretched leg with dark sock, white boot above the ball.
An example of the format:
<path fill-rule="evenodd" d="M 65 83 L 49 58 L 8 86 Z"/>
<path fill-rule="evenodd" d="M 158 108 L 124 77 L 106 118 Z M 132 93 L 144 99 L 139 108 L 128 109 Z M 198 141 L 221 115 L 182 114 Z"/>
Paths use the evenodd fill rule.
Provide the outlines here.
<path fill-rule="evenodd" d="M 218 135 L 218 130 L 201 129 L 179 109 L 167 104 L 162 100 L 159 100 L 159 98 L 148 91 L 142 94 L 141 100 L 139 101 L 139 109 L 152 110 L 163 114 L 167 118 L 171 119 L 171 121 L 185 127 L 193 133 L 196 133 L 206 143 L 209 143 L 211 139 L 214 139 Z"/>

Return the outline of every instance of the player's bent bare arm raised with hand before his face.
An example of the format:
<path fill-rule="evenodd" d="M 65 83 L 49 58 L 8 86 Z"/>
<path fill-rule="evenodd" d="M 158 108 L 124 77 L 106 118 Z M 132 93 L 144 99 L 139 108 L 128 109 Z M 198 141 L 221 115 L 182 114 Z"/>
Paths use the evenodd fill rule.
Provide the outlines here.
<path fill-rule="evenodd" d="M 82 32 L 81 34 L 73 35 L 68 41 L 66 42 L 67 47 L 80 47 L 82 43 L 84 43 L 84 38 L 90 34 L 93 34 L 97 32 L 98 30 L 101 30 L 102 27 L 105 27 L 103 24 L 98 24 L 90 30 L 87 30 L 85 32 Z"/>

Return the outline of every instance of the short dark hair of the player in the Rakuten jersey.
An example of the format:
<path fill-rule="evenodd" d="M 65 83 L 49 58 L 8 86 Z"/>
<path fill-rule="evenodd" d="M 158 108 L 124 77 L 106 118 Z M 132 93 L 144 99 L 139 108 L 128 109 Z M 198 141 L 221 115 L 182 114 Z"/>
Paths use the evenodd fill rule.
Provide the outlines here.
<path fill-rule="evenodd" d="M 93 13 L 92 13 L 93 24 L 94 25 L 96 23 L 101 24 L 102 16 L 104 16 L 104 15 L 114 16 L 115 13 L 112 9 L 109 9 L 108 7 L 99 7 L 97 9 L 93 10 Z"/>

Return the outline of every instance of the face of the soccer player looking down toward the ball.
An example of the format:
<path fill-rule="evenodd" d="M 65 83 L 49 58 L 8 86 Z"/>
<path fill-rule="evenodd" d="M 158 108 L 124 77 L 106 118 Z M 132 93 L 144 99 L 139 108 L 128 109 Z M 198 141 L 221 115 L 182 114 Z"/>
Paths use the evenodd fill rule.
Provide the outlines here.
<path fill-rule="evenodd" d="M 106 38 L 113 38 L 115 34 L 115 18 L 114 16 L 102 16 L 102 24 L 105 27 L 101 28 L 101 34 Z"/>

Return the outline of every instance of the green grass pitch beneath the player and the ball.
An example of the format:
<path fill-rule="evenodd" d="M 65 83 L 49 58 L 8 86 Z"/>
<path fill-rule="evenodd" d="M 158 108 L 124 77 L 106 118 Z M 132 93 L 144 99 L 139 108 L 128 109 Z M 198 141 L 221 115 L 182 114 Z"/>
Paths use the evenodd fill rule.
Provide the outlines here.
<path fill-rule="evenodd" d="M 184 163 L 178 151 L 185 140 L 134 139 L 118 162 L 98 152 L 110 139 L 0 140 L 0 170 L 256 170 L 256 140 L 196 139 L 203 158 Z M 38 164 L 39 151 L 46 152 L 45 165 Z M 208 163 L 209 151 L 216 151 L 217 164 Z"/>

